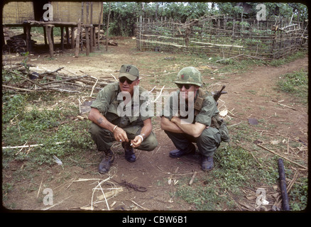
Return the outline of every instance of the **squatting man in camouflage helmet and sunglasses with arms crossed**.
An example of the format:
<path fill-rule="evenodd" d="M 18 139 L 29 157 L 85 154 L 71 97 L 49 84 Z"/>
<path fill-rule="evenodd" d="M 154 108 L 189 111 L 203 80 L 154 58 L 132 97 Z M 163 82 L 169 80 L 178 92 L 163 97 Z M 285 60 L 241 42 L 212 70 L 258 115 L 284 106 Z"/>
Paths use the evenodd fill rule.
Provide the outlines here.
<path fill-rule="evenodd" d="M 165 110 L 169 114 L 161 116 L 161 128 L 173 141 L 176 150 L 170 151 L 170 157 L 181 157 L 195 153 L 197 144 L 202 156 L 201 168 L 204 171 L 212 170 L 214 167 L 213 155 L 222 141 L 222 133 L 219 132 L 219 110 L 212 94 L 204 92 L 202 87 L 202 76 L 195 67 L 185 67 L 178 73 L 175 84 L 179 91 L 173 92 L 165 104 Z M 178 108 L 174 106 L 178 103 Z M 191 122 L 185 121 L 180 113 L 181 99 L 185 101 L 185 109 L 193 114 Z M 178 113 L 174 113 L 178 109 Z M 193 111 L 193 112 L 191 112 Z M 164 111 L 165 113 L 165 111 Z M 224 126 L 224 125 L 223 125 Z M 227 127 L 226 127 L 227 128 Z"/>

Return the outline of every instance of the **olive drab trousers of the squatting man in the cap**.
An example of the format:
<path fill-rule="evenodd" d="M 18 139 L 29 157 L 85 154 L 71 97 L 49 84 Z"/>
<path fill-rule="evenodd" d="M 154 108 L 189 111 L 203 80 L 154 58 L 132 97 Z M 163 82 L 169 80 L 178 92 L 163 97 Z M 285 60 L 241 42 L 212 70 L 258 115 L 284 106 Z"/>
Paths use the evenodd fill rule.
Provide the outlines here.
<path fill-rule="evenodd" d="M 139 135 L 139 133 L 141 132 L 140 126 L 129 126 L 122 129 L 126 131 L 126 135 L 129 140 L 133 140 L 135 136 Z M 137 133 L 133 134 L 133 131 L 136 131 Z M 111 148 L 113 142 L 115 141 L 114 133 L 111 133 L 111 131 L 97 126 L 96 123 L 91 124 L 91 127 L 89 128 L 89 133 L 91 133 L 92 139 L 97 145 L 97 150 L 100 151 L 108 150 L 109 148 Z M 141 143 L 141 145 L 136 149 L 151 151 L 157 146 L 158 140 L 156 140 L 155 135 L 153 134 L 153 132 L 151 132 L 151 134 L 147 138 L 145 138 L 143 140 L 143 143 Z"/>

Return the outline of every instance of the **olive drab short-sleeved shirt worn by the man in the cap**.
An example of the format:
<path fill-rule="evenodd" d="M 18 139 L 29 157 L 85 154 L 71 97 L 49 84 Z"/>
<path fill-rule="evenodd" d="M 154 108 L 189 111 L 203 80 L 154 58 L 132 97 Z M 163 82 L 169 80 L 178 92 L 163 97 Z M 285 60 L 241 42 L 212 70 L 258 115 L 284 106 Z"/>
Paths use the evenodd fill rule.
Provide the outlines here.
<path fill-rule="evenodd" d="M 148 96 L 145 96 L 143 99 L 141 98 L 143 92 L 147 92 L 146 89 L 143 89 L 143 87 L 139 87 L 138 89 L 138 86 L 135 87 L 134 90 L 135 89 L 137 90 L 134 92 L 134 96 L 138 95 L 137 92 L 139 92 L 139 96 L 136 97 L 136 99 L 132 98 L 131 104 L 125 105 L 122 98 L 119 98 L 121 100 L 118 100 L 118 94 L 121 92 L 119 89 L 119 82 L 107 84 L 97 94 L 97 99 L 93 101 L 91 107 L 98 109 L 109 122 L 120 128 L 126 128 L 126 131 L 129 133 L 136 134 L 139 128 L 143 127 L 143 121 L 147 118 L 151 118 L 151 116 L 148 114 L 141 114 L 140 111 L 140 107 L 144 104 L 144 107 L 148 112 L 148 104 L 145 103 L 146 101 L 148 102 Z M 137 100 L 138 102 L 134 100 Z M 120 108 L 120 105 L 123 108 Z M 146 111 L 144 111 L 144 113 L 146 113 Z"/>

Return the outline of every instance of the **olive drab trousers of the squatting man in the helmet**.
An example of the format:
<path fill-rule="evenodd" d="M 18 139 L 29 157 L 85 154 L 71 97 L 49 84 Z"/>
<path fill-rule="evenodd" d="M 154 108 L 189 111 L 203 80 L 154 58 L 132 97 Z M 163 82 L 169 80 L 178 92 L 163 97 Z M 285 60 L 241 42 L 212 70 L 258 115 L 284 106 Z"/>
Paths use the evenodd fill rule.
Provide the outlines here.
<path fill-rule="evenodd" d="M 169 131 L 165 131 L 165 133 L 178 150 L 188 150 L 191 148 L 192 143 L 197 143 L 199 153 L 206 157 L 214 155 L 222 141 L 218 129 L 213 127 L 205 128 L 197 138 L 186 133 L 172 133 Z"/>

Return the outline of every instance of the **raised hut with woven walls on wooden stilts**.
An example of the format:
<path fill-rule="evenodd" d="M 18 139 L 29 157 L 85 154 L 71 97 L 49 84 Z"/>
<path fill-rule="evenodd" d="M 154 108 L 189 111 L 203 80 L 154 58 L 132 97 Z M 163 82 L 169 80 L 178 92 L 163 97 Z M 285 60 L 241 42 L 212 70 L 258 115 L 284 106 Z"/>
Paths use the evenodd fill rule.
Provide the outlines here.
<path fill-rule="evenodd" d="M 62 49 L 64 49 L 63 29 L 66 30 L 68 45 L 70 41 L 69 28 L 71 28 L 71 48 L 75 47 L 75 39 L 77 39 L 76 56 L 78 55 L 79 43 L 82 42 L 79 40 L 82 31 L 80 27 L 87 34 L 87 55 L 89 48 L 92 52 L 96 43 L 99 46 L 99 38 L 96 40 L 94 27 L 99 26 L 100 28 L 102 24 L 103 4 L 101 1 L 6 1 L 8 2 L 4 4 L 2 9 L 2 25 L 6 27 L 23 26 L 26 34 L 27 51 L 31 50 L 31 27 L 33 26 L 43 26 L 45 44 L 48 43 L 48 40 L 51 57 L 54 49 L 53 27 L 60 27 Z M 45 7 L 47 6 L 45 4 L 50 5 Z M 75 28 L 77 28 L 77 35 L 74 32 Z M 99 37 L 99 29 L 97 37 Z"/>

